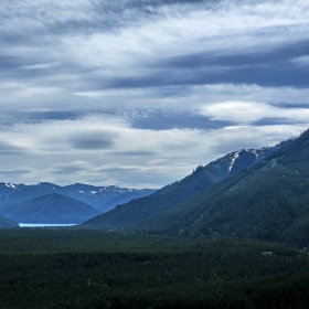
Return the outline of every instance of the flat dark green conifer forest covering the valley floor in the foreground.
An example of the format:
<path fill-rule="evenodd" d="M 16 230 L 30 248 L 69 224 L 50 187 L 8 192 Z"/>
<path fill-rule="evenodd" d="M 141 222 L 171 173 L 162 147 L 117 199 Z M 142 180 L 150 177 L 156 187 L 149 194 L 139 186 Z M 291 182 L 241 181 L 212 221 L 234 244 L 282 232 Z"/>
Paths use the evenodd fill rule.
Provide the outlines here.
<path fill-rule="evenodd" d="M 0 231 L 0 308 L 308 308 L 280 244 L 98 230 Z"/>

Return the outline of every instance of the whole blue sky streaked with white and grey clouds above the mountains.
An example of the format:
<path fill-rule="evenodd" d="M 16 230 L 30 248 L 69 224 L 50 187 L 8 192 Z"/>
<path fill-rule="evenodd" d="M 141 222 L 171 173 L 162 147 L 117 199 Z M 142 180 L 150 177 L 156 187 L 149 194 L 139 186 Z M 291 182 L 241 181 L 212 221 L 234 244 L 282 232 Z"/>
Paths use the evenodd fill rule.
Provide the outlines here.
<path fill-rule="evenodd" d="M 0 181 L 161 188 L 309 127 L 308 0 L 1 0 Z"/>

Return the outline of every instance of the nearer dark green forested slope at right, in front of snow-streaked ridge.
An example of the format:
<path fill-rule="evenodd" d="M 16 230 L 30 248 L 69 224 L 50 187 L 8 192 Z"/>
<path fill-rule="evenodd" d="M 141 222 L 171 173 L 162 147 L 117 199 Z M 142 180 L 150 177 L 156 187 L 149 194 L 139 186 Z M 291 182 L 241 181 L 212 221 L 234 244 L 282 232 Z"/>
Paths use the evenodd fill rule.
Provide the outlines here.
<path fill-rule="evenodd" d="M 248 170 L 142 222 L 156 233 L 309 245 L 309 130 Z"/>

